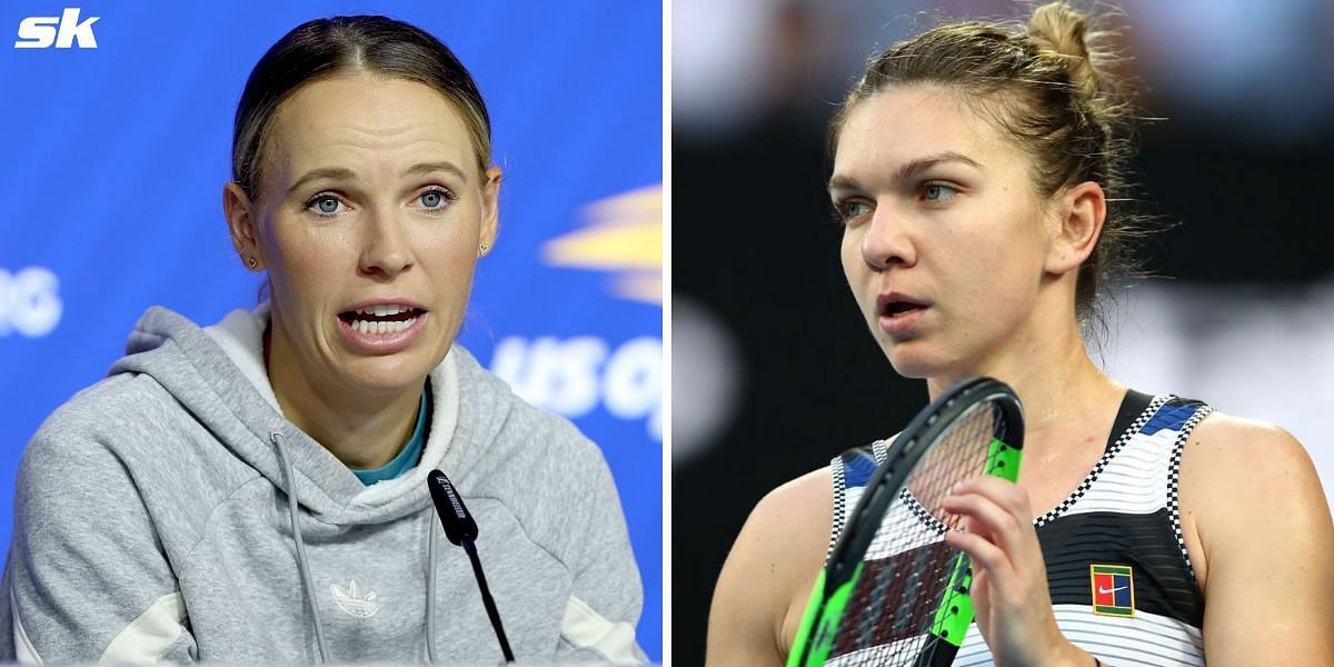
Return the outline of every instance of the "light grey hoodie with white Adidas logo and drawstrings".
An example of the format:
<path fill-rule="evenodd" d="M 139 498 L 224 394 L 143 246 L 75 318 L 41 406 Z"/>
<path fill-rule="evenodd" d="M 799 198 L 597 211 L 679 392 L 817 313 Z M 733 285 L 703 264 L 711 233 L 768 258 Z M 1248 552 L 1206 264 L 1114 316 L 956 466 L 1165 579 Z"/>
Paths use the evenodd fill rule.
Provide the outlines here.
<path fill-rule="evenodd" d="M 639 572 L 596 446 L 455 346 L 431 372 L 420 464 L 366 487 L 283 418 L 267 317 L 205 331 L 151 308 L 109 376 L 41 426 L 19 470 L 0 659 L 494 664 L 471 564 L 428 496 L 439 468 L 476 519 L 520 662 L 643 660 Z"/>

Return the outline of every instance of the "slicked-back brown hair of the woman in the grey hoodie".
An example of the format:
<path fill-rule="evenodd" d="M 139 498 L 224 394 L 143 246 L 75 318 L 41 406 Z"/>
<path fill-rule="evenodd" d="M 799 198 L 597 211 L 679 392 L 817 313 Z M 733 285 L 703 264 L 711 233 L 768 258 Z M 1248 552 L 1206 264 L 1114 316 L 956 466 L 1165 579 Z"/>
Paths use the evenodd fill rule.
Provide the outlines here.
<path fill-rule="evenodd" d="M 434 88 L 455 104 L 472 135 L 478 165 L 491 161 L 491 117 L 468 69 L 428 32 L 384 16 L 335 16 L 303 23 L 259 59 L 240 103 L 232 135 L 232 179 L 251 200 L 260 196 L 268 127 L 284 100 L 303 85 L 339 75 L 406 79 Z"/>

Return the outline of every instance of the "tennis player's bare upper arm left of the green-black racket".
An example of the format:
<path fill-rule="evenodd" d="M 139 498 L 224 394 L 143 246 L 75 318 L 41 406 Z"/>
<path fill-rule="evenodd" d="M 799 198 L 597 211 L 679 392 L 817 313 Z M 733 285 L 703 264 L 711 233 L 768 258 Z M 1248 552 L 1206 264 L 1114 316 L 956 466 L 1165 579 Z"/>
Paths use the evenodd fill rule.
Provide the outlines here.
<path fill-rule="evenodd" d="M 834 491 L 830 468 L 770 491 L 727 555 L 708 615 L 708 664 L 782 664 L 824 563 Z M 791 610 L 796 610 L 795 620 Z"/>

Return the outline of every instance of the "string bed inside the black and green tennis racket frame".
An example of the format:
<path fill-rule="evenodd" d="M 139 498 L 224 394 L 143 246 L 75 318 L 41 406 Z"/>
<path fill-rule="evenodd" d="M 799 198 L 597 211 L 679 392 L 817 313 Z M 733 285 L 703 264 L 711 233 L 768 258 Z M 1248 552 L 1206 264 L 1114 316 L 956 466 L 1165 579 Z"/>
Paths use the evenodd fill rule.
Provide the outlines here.
<path fill-rule="evenodd" d="M 963 594 L 950 586 L 960 579 L 959 552 L 943 540 L 962 519 L 940 503 L 956 483 L 987 470 L 999 424 L 992 404 L 974 406 L 923 455 L 863 556 L 828 664 L 910 666 L 935 643 L 938 610 L 947 612 Z"/>

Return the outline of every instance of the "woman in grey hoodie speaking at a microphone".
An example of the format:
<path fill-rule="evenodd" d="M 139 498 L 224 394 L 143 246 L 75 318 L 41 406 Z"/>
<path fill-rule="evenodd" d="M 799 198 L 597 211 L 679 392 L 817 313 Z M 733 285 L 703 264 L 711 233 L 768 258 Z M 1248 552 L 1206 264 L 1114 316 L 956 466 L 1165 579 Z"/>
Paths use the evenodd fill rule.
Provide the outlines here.
<path fill-rule="evenodd" d="M 305 23 L 251 73 L 232 167 L 231 239 L 272 299 L 208 328 L 149 309 L 45 422 L 0 658 L 496 663 L 440 470 L 520 660 L 643 662 L 598 447 L 455 344 L 500 188 L 463 64 L 391 19 Z"/>

